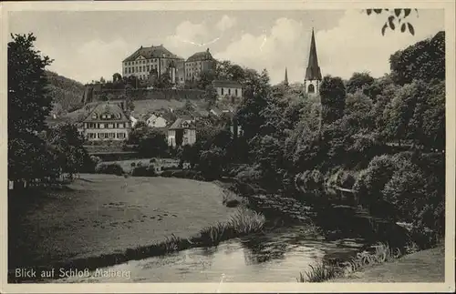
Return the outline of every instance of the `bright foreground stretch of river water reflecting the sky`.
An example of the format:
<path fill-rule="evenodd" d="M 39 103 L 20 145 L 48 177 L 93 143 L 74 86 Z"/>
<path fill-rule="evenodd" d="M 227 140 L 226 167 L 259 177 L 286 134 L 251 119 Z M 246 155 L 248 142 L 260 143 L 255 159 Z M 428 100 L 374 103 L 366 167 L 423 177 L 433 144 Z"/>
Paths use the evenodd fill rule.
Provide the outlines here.
<path fill-rule="evenodd" d="M 362 240 L 309 238 L 299 227 L 286 228 L 109 268 L 130 271 L 130 279 L 89 277 L 57 282 L 295 282 L 299 272 L 317 260 L 347 258 L 363 245 Z"/>

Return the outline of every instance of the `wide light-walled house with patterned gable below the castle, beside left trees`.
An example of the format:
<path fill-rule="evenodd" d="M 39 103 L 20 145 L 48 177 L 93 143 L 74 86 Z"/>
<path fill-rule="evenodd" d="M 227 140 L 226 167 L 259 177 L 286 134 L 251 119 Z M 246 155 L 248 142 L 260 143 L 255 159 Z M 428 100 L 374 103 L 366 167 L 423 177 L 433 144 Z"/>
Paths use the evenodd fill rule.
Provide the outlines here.
<path fill-rule="evenodd" d="M 101 103 L 82 121 L 82 133 L 89 141 L 127 140 L 131 122 L 122 108 L 114 103 Z"/>

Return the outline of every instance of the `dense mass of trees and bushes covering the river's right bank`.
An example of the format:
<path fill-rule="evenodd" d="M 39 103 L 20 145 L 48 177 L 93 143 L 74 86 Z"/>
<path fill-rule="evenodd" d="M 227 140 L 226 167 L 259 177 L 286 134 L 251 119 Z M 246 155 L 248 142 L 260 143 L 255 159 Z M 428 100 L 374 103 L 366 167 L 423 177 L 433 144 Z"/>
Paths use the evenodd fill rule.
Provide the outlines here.
<path fill-rule="evenodd" d="M 236 76 L 245 86 L 235 115 L 244 133 L 230 136 L 228 128 L 207 122 L 197 144 L 182 150 L 181 161 L 206 178 L 229 175 L 275 191 L 354 189 L 372 214 L 442 234 L 445 81 L 444 47 L 437 41 L 442 35 L 391 56 L 390 75 L 354 73 L 347 83 L 325 76 L 319 96 L 270 86 L 266 71 L 241 73 L 223 63 L 218 75 Z M 434 70 L 437 65 L 440 70 Z M 430 69 L 424 73 L 420 66 Z"/>

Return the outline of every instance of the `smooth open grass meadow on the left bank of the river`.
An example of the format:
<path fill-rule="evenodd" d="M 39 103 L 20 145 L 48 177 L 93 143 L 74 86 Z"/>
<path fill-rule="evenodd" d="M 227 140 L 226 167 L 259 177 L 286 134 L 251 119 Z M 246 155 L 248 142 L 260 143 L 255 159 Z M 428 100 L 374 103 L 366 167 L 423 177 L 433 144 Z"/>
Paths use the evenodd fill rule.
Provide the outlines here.
<path fill-rule="evenodd" d="M 171 234 L 190 238 L 233 211 L 215 184 L 181 178 L 81 175 L 67 189 L 28 197 L 9 197 L 9 269 L 121 252 Z"/>

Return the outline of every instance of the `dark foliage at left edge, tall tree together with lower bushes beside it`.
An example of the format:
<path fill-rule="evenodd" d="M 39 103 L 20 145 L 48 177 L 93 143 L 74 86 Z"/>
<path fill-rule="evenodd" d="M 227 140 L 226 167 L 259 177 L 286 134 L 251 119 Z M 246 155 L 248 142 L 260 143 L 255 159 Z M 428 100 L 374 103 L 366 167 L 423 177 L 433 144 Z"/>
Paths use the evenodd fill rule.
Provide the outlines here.
<path fill-rule="evenodd" d="M 52 184 L 92 163 L 76 127 L 47 128 L 52 96 L 45 67 L 51 60 L 35 41 L 32 34 L 13 35 L 8 43 L 8 179 L 15 188 Z"/>

